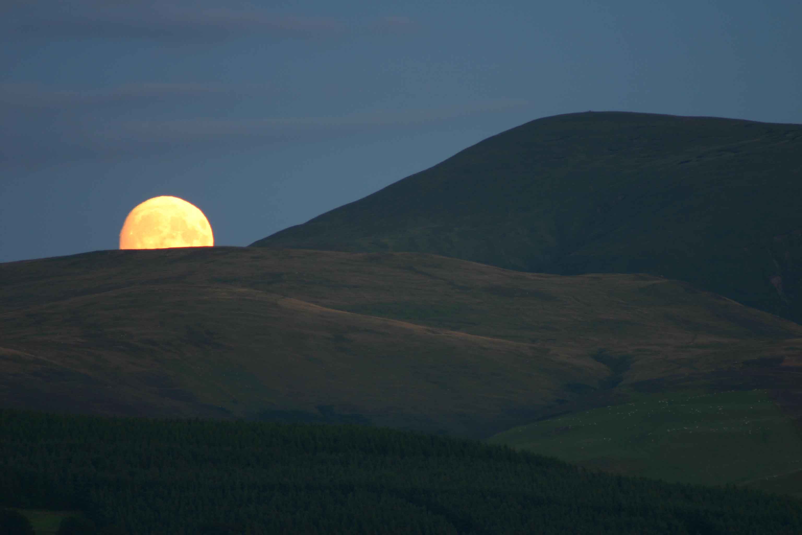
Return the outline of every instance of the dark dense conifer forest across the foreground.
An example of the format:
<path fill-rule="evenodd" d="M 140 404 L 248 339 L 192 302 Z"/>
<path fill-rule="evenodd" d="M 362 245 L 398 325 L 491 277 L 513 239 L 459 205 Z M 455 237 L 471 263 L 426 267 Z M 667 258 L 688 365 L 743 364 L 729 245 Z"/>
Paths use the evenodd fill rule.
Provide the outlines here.
<path fill-rule="evenodd" d="M 0 410 L 0 508 L 113 533 L 802 533 L 802 502 L 362 426 Z M 111 531 L 107 532 L 111 533 Z"/>

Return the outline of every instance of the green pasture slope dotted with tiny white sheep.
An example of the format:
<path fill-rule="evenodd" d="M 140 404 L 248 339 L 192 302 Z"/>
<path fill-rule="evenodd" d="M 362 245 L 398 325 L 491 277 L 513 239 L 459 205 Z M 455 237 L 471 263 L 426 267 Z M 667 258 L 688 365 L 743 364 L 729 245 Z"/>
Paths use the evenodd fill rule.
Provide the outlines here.
<path fill-rule="evenodd" d="M 789 477 L 802 474 L 802 434 L 761 390 L 646 395 L 512 428 L 489 442 L 609 472 L 802 497 Z"/>

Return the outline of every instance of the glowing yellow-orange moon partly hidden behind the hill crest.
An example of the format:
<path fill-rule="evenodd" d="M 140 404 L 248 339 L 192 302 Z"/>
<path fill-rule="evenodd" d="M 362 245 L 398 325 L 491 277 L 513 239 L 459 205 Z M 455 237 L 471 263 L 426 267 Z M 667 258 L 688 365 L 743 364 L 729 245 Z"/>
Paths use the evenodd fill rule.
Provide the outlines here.
<path fill-rule="evenodd" d="M 166 195 L 136 205 L 119 231 L 120 249 L 212 245 L 212 225 L 203 212 L 184 199 Z"/>

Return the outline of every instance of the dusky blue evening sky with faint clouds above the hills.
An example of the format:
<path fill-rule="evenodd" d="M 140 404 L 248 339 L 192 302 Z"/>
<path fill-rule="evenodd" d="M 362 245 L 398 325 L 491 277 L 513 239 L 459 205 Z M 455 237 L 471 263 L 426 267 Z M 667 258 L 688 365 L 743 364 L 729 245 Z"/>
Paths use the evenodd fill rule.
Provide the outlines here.
<path fill-rule="evenodd" d="M 172 195 L 249 245 L 577 111 L 802 123 L 798 0 L 0 2 L 0 262 Z"/>

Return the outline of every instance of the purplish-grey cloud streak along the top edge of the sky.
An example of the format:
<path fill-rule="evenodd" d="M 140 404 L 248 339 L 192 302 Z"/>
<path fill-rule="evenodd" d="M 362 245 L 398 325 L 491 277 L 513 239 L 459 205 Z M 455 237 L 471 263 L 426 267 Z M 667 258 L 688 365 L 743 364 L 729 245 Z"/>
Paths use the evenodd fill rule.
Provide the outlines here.
<path fill-rule="evenodd" d="M 0 11 L 0 30 L 14 39 L 144 39 L 205 43 L 255 36 L 271 40 L 319 39 L 350 33 L 407 30 L 405 17 L 363 22 L 277 14 L 230 3 L 11 2 Z"/>

